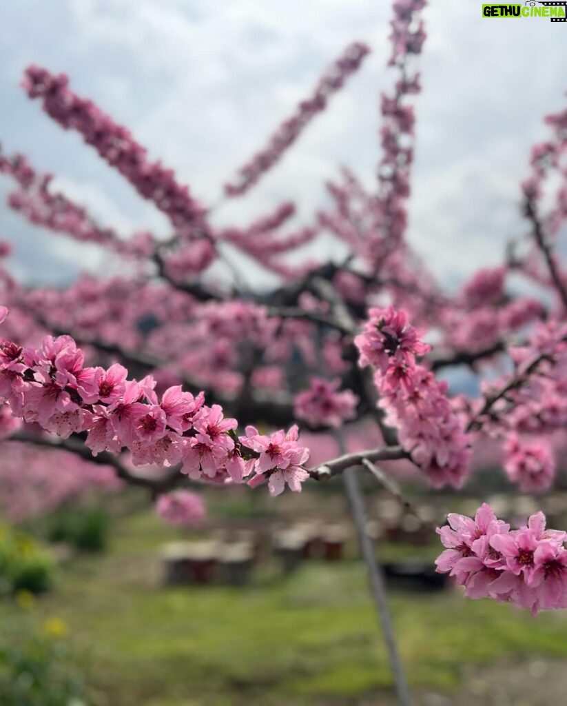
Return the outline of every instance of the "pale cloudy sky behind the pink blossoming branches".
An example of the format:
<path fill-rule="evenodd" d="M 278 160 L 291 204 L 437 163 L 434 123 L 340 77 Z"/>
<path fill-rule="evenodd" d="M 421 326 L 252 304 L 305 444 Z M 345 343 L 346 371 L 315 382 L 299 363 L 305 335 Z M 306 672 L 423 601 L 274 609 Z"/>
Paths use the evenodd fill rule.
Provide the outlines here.
<path fill-rule="evenodd" d="M 542 116 L 566 104 L 567 25 L 544 18 L 482 18 L 480 0 L 431 0 L 420 60 L 417 162 L 410 234 L 454 286 L 501 259 L 521 232 L 518 183 L 530 145 L 547 134 Z M 372 184 L 385 64 L 386 0 L 18 0 L 0 20 L 0 140 L 27 152 L 61 189 L 124 233 L 166 222 L 140 201 L 80 138 L 66 133 L 19 88 L 35 62 L 71 76 L 190 184 L 203 203 L 221 186 L 348 42 L 372 47 L 362 70 L 319 116 L 278 169 L 250 196 L 216 210 L 217 223 L 245 223 L 287 198 L 309 222 L 325 203 L 324 180 L 347 164 Z M 8 192 L 0 181 L 0 198 Z M 0 205 L 0 237 L 13 242 L 14 272 L 61 282 L 102 257 L 29 227 Z M 327 247 L 319 244 L 319 250 Z M 248 278 L 263 282 L 255 268 Z"/>

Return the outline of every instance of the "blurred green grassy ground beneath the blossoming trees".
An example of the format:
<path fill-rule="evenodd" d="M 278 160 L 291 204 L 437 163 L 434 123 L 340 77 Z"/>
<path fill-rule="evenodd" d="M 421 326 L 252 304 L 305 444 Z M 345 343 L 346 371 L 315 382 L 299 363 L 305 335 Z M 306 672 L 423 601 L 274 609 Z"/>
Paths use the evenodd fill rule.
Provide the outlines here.
<path fill-rule="evenodd" d="M 162 588 L 159 545 L 176 537 L 150 513 L 121 520 L 109 552 L 61 568 L 32 611 L 38 623 L 61 618 L 86 647 L 104 706 L 312 706 L 390 686 L 356 561 L 285 578 L 269 566 L 245 589 Z M 391 608 L 417 688 L 451 690 L 465 666 L 494 659 L 567 657 L 563 614 L 532 618 L 452 591 L 397 593 Z M 0 604 L 0 621 L 16 620 Z"/>

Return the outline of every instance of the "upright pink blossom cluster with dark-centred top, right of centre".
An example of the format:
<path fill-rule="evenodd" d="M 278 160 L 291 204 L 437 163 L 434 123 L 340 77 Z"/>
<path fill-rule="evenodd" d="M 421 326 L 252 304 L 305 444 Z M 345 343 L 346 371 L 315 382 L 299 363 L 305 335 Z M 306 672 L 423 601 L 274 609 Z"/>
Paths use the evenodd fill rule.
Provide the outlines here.
<path fill-rule="evenodd" d="M 355 344 L 360 365 L 376 369 L 374 382 L 386 424 L 398 429 L 400 443 L 432 486 L 460 487 L 471 455 L 468 441 L 446 396 L 446 383 L 415 361 L 431 347 L 420 340 L 406 312 L 392 307 L 370 309 L 365 331 Z"/>

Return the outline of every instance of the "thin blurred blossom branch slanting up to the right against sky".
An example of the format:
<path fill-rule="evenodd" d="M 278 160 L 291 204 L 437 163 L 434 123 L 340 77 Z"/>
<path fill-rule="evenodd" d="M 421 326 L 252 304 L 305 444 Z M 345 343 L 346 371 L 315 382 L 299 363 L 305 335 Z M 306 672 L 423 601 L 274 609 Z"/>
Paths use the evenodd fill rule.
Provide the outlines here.
<path fill-rule="evenodd" d="M 267 147 L 252 157 L 252 160 L 238 169 L 238 177 L 224 187 L 227 196 L 242 196 L 256 184 L 281 158 L 281 155 L 293 145 L 308 123 L 327 107 L 329 97 L 343 87 L 346 79 L 362 64 L 370 52 L 365 44 L 355 42 L 344 50 L 343 54 L 327 69 L 319 80 L 315 91 L 307 100 L 301 102 L 295 113 L 282 123 L 269 139 Z"/>

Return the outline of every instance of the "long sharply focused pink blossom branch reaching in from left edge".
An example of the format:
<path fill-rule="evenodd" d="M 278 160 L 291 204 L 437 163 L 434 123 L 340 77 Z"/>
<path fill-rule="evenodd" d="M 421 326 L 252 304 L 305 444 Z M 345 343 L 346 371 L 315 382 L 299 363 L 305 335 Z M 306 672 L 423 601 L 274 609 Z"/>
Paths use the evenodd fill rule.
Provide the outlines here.
<path fill-rule="evenodd" d="M 7 313 L 1 307 L 0 322 Z M 238 438 L 236 419 L 225 419 L 219 405 L 207 407 L 203 393 L 195 397 L 176 385 L 159 399 L 152 376 L 128 380 L 120 364 L 103 369 L 83 363 L 70 336 L 47 336 L 39 349 L 3 340 L 0 402 L 62 438 L 87 432 L 94 455 L 126 447 L 135 465 L 181 463 L 191 478 L 217 483 L 240 483 L 254 472 L 256 484 L 269 478 L 272 494 L 285 482 L 300 491 L 309 477 L 300 468 L 309 451 L 298 443 L 297 426 L 271 436 L 247 427 Z"/>

